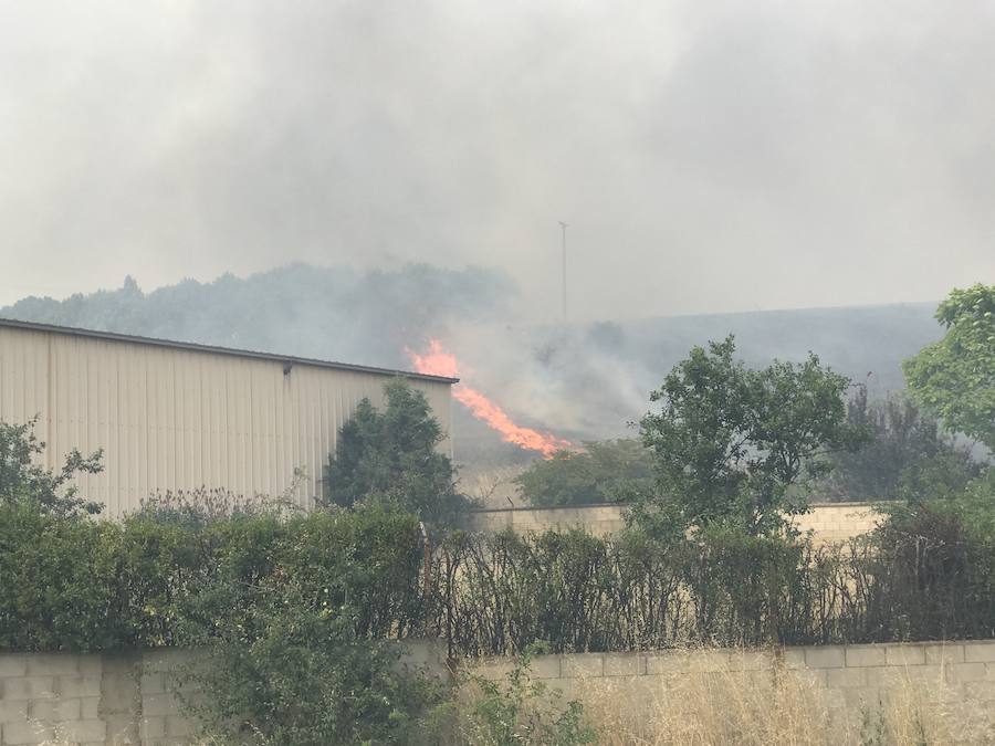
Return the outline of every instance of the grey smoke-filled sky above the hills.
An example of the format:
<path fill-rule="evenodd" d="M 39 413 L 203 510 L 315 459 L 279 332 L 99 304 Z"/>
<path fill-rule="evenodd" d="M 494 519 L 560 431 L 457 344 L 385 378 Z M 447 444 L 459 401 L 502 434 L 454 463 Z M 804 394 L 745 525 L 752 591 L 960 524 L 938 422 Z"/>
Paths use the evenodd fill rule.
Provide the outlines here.
<path fill-rule="evenodd" d="M 0 0 L 0 303 L 292 260 L 575 316 L 995 282 L 995 2 Z"/>

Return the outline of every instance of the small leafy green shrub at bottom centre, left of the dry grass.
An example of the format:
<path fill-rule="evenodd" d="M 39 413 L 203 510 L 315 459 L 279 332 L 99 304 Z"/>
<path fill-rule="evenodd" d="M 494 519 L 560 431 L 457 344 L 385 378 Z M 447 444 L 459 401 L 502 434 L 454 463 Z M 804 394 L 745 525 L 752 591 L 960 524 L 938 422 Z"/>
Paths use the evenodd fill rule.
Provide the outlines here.
<path fill-rule="evenodd" d="M 531 675 L 535 655 L 548 652 L 532 643 L 515 656 L 504 684 L 472 674 L 480 692 L 464 713 L 461 735 L 474 746 L 579 746 L 597 743 L 597 734 L 584 722 L 584 707 L 576 700 L 559 705 L 563 694 Z"/>

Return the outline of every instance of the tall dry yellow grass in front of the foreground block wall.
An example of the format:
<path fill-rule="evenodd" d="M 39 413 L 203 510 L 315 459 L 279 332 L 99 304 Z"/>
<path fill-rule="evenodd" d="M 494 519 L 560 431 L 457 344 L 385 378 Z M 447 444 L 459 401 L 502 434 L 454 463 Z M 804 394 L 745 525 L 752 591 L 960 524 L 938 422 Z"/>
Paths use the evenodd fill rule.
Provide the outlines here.
<path fill-rule="evenodd" d="M 580 680 L 570 694 L 610 746 L 995 744 L 995 717 L 946 696 L 942 680 L 898 669 L 888 686 L 845 695 L 825 686 L 825 672 L 743 670 L 736 659 L 695 673 Z"/>

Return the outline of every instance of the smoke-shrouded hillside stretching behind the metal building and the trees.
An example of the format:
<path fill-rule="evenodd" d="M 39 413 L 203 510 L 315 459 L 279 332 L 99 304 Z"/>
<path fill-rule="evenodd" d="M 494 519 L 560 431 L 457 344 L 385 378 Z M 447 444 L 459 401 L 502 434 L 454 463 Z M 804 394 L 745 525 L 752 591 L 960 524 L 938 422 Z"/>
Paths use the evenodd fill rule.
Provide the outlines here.
<path fill-rule="evenodd" d="M 931 305 L 541 325 L 516 313 L 517 297 L 515 283 L 492 270 L 298 264 L 149 293 L 128 280 L 65 301 L 24 298 L 0 316 L 400 368 L 410 366 L 406 349 L 423 351 L 438 338 L 467 382 L 519 424 L 575 442 L 631 434 L 627 423 L 669 369 L 693 345 L 730 333 L 751 364 L 800 360 L 811 349 L 879 392 L 901 388 L 901 360 L 941 333 Z M 535 455 L 502 443 L 460 407 L 453 427 L 461 463 Z"/>

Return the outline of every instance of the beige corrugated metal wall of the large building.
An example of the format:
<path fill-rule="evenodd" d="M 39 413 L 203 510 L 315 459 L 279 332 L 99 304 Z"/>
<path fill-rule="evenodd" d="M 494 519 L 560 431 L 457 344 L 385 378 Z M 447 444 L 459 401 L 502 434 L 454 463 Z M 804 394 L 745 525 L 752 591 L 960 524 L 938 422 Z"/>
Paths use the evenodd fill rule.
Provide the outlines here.
<path fill-rule="evenodd" d="M 39 414 L 48 465 L 104 449 L 81 495 L 121 515 L 157 491 L 279 495 L 295 467 L 302 506 L 320 494 L 338 429 L 389 376 L 0 326 L 0 420 Z M 411 380 L 449 432 L 450 386 Z M 443 448 L 451 451 L 449 441 Z"/>

